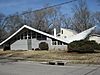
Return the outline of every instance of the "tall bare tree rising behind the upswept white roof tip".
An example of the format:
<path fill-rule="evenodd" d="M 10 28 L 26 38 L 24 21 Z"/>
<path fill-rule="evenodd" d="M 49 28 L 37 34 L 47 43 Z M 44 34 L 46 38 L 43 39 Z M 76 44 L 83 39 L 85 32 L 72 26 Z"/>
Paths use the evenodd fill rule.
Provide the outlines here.
<path fill-rule="evenodd" d="M 73 12 L 72 24 L 73 29 L 77 32 L 84 31 L 95 25 L 94 17 L 90 13 L 85 0 L 80 0 L 77 5 L 74 5 Z"/>

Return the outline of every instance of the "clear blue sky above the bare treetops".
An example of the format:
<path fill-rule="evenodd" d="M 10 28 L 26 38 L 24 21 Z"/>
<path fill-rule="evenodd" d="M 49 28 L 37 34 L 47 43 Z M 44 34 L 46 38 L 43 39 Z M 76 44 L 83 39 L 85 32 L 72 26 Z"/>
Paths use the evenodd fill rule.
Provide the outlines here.
<path fill-rule="evenodd" d="M 22 13 L 22 11 L 26 11 L 28 9 L 37 10 L 44 7 L 44 5 L 48 4 L 50 6 L 63 3 L 70 0 L 0 0 L 0 12 L 5 15 L 12 15 L 16 12 Z M 72 6 L 75 4 L 69 3 L 62 6 L 63 12 L 67 12 L 68 14 L 72 12 Z M 95 12 L 100 11 L 100 6 L 96 0 L 87 0 L 87 4 L 89 10 Z"/>

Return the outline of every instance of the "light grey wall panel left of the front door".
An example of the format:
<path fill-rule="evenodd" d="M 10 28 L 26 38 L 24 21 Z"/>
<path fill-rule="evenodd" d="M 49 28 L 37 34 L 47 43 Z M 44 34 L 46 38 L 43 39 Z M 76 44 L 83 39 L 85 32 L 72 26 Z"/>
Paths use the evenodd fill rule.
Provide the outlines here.
<path fill-rule="evenodd" d="M 10 47 L 11 50 L 28 50 L 27 40 L 17 40 Z"/>

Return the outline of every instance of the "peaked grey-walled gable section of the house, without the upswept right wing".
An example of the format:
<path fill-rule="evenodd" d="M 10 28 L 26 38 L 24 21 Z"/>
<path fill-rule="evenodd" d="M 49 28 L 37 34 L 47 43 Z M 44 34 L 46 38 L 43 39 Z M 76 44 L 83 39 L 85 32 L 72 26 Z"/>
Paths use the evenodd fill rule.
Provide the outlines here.
<path fill-rule="evenodd" d="M 41 42 L 46 42 L 49 46 L 49 50 L 67 49 L 66 41 L 27 25 L 24 25 L 6 40 L 1 42 L 0 46 L 2 46 L 4 50 L 32 50 L 39 48 Z"/>

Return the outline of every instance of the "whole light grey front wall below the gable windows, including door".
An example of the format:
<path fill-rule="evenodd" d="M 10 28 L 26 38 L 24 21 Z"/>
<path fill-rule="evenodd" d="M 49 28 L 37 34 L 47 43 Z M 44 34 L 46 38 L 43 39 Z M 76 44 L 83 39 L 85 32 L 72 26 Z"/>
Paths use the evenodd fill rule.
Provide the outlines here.
<path fill-rule="evenodd" d="M 52 39 L 37 40 L 37 39 L 23 39 L 17 40 L 11 45 L 11 50 L 32 50 L 39 48 L 41 42 L 48 43 L 49 50 L 67 50 L 67 45 L 52 45 Z"/>

